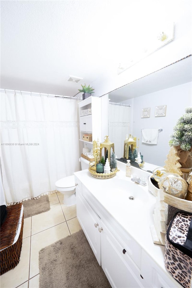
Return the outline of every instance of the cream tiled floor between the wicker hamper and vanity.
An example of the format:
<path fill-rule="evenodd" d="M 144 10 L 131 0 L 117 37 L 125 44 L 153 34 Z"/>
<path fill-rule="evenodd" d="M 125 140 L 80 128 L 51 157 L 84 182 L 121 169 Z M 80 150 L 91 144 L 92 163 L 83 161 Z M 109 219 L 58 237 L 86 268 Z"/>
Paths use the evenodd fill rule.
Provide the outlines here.
<path fill-rule="evenodd" d="M 49 202 L 49 211 L 24 219 L 19 264 L 0 276 L 1 288 L 38 288 L 39 250 L 81 229 L 76 205 L 65 206 L 59 192 L 50 194 Z"/>

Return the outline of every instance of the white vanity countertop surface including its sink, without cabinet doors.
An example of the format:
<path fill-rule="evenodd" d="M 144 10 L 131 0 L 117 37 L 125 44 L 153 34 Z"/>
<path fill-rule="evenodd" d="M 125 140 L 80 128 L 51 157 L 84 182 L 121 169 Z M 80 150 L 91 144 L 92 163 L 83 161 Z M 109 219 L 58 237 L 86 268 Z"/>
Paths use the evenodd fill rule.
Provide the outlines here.
<path fill-rule="evenodd" d="M 153 211 L 156 198 L 148 191 L 148 185 L 142 186 L 125 176 L 126 164 L 118 161 L 119 172 L 110 179 L 97 179 L 88 170 L 74 173 L 75 176 L 91 192 L 94 198 L 110 213 L 110 215 L 131 235 L 158 266 L 173 277 L 164 265 L 164 249 L 162 245 L 153 243 L 150 225 L 153 224 Z M 141 169 L 131 167 L 131 176 L 147 177 L 151 175 Z M 148 181 L 147 181 L 148 182 Z M 133 195 L 132 195 L 133 194 Z M 129 196 L 134 196 L 130 200 Z M 182 287 L 176 282 L 178 287 Z"/>

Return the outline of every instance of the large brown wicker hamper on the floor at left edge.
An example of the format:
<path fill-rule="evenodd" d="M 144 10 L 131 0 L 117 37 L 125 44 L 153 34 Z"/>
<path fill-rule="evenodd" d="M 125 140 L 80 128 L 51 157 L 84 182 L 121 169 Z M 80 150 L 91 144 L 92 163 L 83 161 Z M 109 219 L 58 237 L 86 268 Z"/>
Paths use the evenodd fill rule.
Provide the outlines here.
<path fill-rule="evenodd" d="M 0 275 L 4 274 L 10 269 L 15 268 L 15 266 L 19 263 L 19 259 L 21 255 L 21 247 L 22 247 L 23 218 L 24 217 L 22 217 L 22 225 L 21 225 L 19 238 L 15 244 L 12 245 L 12 243 L 16 235 L 16 229 L 17 229 L 17 225 L 19 221 L 21 207 L 22 207 L 22 203 L 8 206 L 7 218 L 1 226 L 0 249 L 3 249 L 5 247 L 7 248 L 5 248 L 4 250 L 0 252 L 0 257 L 1 257 Z"/>

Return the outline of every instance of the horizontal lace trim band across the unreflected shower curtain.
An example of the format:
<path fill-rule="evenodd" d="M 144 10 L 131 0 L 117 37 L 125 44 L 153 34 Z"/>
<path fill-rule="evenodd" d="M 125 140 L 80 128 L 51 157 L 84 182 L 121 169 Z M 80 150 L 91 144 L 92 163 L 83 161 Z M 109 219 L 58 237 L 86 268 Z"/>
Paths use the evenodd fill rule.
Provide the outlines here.
<path fill-rule="evenodd" d="M 1 129 L 79 127 L 78 121 L 1 121 Z"/>

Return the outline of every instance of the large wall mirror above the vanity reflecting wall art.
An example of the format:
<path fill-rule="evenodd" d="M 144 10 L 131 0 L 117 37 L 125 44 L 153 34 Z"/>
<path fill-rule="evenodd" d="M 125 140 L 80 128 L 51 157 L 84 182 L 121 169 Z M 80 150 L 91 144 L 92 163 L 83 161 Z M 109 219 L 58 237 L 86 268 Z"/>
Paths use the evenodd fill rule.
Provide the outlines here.
<path fill-rule="evenodd" d="M 109 136 L 123 157 L 126 135 L 137 137 L 147 163 L 163 167 L 170 134 L 186 107 L 192 106 L 192 57 L 188 56 L 109 93 Z M 116 104 L 115 104 L 116 103 Z M 148 109 L 146 109 L 148 108 Z M 142 129 L 158 129 L 157 144 L 142 143 Z M 138 140 L 139 138 L 139 140 Z"/>

